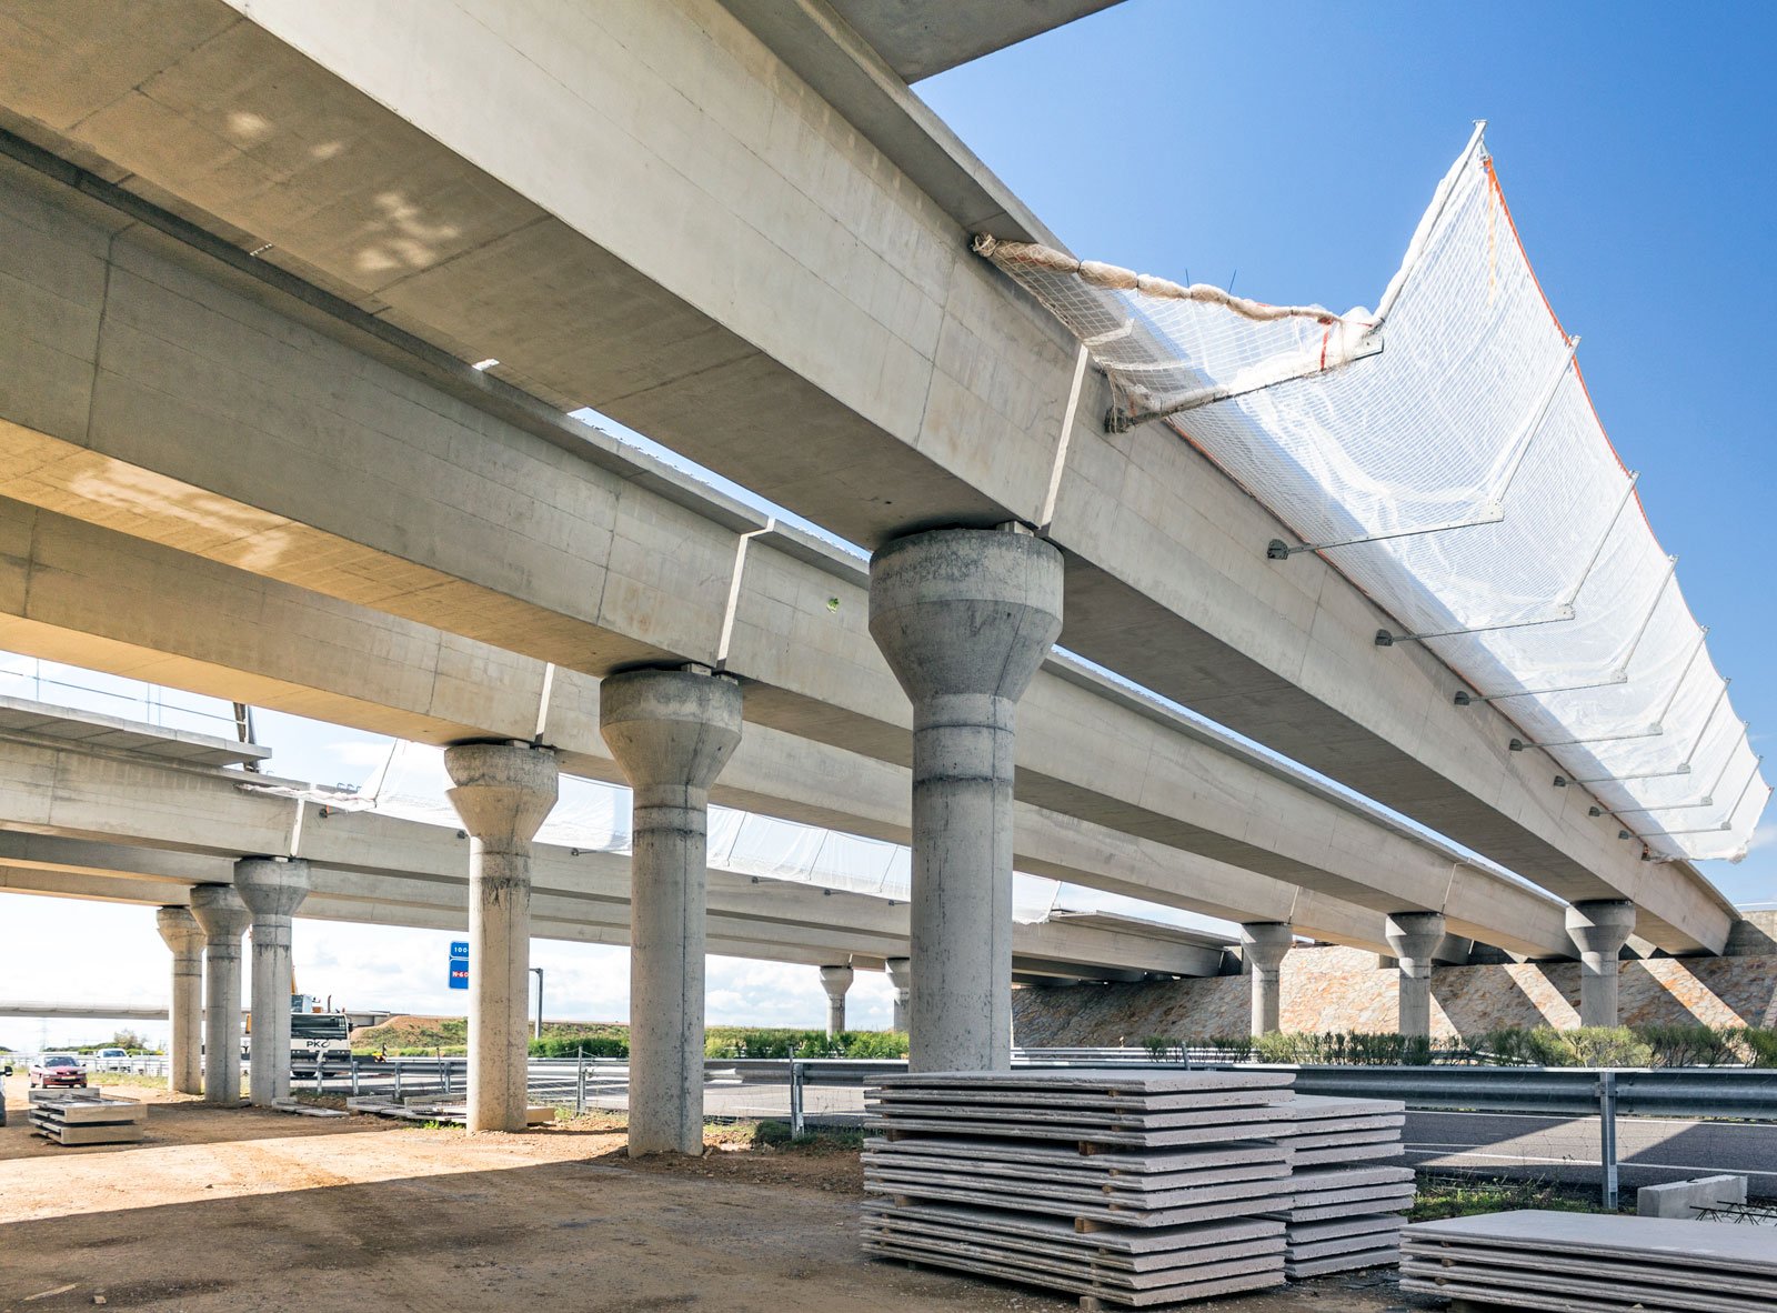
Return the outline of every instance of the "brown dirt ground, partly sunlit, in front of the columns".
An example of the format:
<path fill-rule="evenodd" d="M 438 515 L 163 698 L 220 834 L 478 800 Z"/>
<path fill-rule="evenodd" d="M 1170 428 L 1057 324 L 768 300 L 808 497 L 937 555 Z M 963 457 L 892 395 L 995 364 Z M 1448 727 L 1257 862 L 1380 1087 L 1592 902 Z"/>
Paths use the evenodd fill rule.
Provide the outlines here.
<path fill-rule="evenodd" d="M 354 1116 L 211 1109 L 165 1091 L 140 1144 L 32 1135 L 7 1080 L 0 1130 L 0 1313 L 492 1309 L 617 1313 L 1020 1309 L 1072 1299 L 858 1253 L 855 1151 L 737 1148 L 629 1160 L 610 1123 L 467 1135 Z M 1196 1308 L 1404 1313 L 1390 1272 Z"/>

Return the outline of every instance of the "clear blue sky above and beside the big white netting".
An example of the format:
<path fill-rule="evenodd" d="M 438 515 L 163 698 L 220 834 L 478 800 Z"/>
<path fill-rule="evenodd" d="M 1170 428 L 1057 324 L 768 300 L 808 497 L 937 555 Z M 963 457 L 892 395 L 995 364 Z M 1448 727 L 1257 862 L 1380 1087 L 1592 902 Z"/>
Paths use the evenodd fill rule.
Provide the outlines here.
<path fill-rule="evenodd" d="M 1127 0 L 919 94 L 1089 259 L 1374 306 L 1473 119 L 1759 750 L 1777 744 L 1777 5 Z M 1763 737 L 1763 743 L 1759 739 Z M 1777 824 L 1709 876 L 1777 899 Z"/>

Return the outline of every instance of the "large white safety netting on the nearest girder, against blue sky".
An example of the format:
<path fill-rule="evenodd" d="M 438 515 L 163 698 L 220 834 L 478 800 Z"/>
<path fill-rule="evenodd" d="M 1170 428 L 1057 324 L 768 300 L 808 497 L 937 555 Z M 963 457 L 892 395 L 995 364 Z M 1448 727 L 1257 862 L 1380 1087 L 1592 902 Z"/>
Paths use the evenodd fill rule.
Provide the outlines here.
<path fill-rule="evenodd" d="M 1375 313 L 977 251 L 1590 791 L 1653 860 L 1740 860 L 1768 789 L 1519 245 L 1480 131 Z M 1265 544 L 1255 544 L 1263 551 Z M 1279 569 L 1288 569 L 1279 565 Z"/>

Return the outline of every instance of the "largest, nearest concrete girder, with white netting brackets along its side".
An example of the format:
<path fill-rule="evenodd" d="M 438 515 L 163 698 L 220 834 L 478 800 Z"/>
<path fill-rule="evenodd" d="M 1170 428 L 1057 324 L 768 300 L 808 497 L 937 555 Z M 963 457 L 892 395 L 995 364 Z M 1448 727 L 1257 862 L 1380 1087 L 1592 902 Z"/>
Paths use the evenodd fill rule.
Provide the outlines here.
<path fill-rule="evenodd" d="M 512 16 L 496 41 L 457 11 L 400 32 L 352 5 L 256 5 L 263 27 L 213 0 L 185 11 L 169 28 L 183 41 L 37 16 L 36 36 L 57 57 L 20 80 L 11 112 L 229 236 L 272 242 L 272 259 L 466 359 L 494 350 L 505 377 L 546 400 L 592 402 L 853 540 L 874 545 L 910 513 L 1036 517 L 1073 348 L 961 242 L 968 227 L 1018 229 L 1027 215 L 892 80 L 878 80 L 869 115 L 842 89 L 869 78 L 823 82 L 819 94 L 800 80 L 819 60 L 842 62 L 842 39 L 794 27 L 794 11 L 787 34 L 750 32 L 709 0 L 576 11 L 547 27 Z M 131 43 L 130 66 L 155 69 L 153 103 L 80 76 L 114 66 L 101 57 L 108 43 Z M 394 48 L 400 59 L 387 57 Z M 439 76 L 414 84 L 402 75 L 414 62 Z M 697 98 L 665 73 L 684 66 L 705 73 Z M 558 76 L 537 78 L 538 68 Z M 599 187 L 510 149 L 499 114 L 462 115 L 441 91 L 457 84 L 450 69 L 526 87 L 528 124 L 597 160 L 586 176 Z M 403 203 L 434 220 L 421 268 L 331 227 L 329 215 L 366 210 L 368 188 L 386 187 L 380 171 L 290 165 L 265 188 L 247 185 L 251 169 L 210 167 L 220 87 L 229 107 L 270 87 L 279 105 L 325 99 L 361 149 L 402 158 Z M 830 131 L 835 108 L 858 114 L 860 133 Z M 300 147 L 327 146 L 307 140 L 320 124 L 302 115 L 259 123 L 263 140 L 238 144 L 245 158 L 300 160 Z M 707 137 L 695 160 L 677 149 L 684 133 Z M 945 162 L 954 188 L 929 181 Z M 291 206 L 284 188 L 327 203 Z M 636 188 L 657 206 L 629 204 Z M 681 240 L 647 219 L 656 211 L 698 213 L 709 240 Z M 517 275 L 537 252 L 558 306 L 540 307 L 537 279 Z M 466 281 L 478 295 L 464 295 Z M 602 295 L 583 295 L 594 286 Z M 1070 435 L 1052 526 L 1070 554 L 1063 641 L 1564 897 L 1635 897 L 1649 938 L 1720 947 L 1729 911 L 1709 890 L 1670 872 L 1649 879 L 1612 824 L 1542 787 L 1535 760 L 1505 753 L 1503 720 L 1450 705 L 1454 680 L 1429 654 L 1377 657 L 1379 617 L 1356 590 L 1319 561 L 1263 563 L 1260 544 L 1278 531 L 1269 515 L 1166 434 L 1095 432 L 1098 402 L 1088 398 Z M 821 441 L 787 444 L 785 410 Z M 846 471 L 858 453 L 883 496 L 857 496 Z"/>

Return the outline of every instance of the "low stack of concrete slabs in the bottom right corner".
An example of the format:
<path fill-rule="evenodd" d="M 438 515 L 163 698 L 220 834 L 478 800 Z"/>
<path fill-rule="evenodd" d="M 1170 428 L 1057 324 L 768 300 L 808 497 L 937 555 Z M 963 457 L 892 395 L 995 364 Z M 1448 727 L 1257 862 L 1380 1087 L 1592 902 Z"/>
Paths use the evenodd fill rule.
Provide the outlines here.
<path fill-rule="evenodd" d="M 1777 1242 L 1763 1226 L 1512 1212 L 1416 1222 L 1400 1288 L 1555 1313 L 1770 1313 Z"/>

